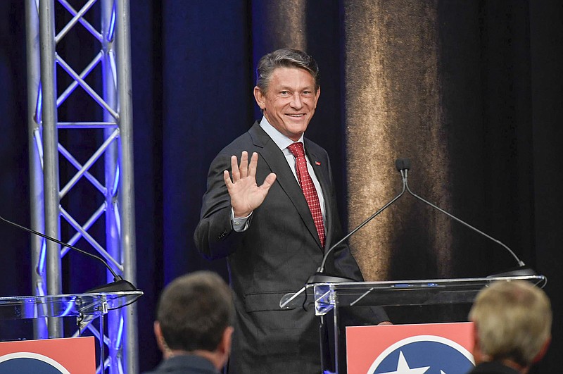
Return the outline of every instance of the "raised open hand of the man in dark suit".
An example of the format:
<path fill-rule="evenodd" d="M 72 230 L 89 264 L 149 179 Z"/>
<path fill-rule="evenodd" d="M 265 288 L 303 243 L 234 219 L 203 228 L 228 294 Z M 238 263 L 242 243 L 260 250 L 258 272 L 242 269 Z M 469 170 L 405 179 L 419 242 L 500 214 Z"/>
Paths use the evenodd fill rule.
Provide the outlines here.
<path fill-rule="evenodd" d="M 241 154 L 241 165 L 239 166 L 236 156 L 231 156 L 231 175 L 229 170 L 224 170 L 223 179 L 227 186 L 229 196 L 231 197 L 231 206 L 235 217 L 246 217 L 266 198 L 270 187 L 276 180 L 276 175 L 270 173 L 262 185 L 256 184 L 256 168 L 258 166 L 258 154 L 252 154 L 250 163 L 248 163 L 248 152 L 243 151 Z"/>

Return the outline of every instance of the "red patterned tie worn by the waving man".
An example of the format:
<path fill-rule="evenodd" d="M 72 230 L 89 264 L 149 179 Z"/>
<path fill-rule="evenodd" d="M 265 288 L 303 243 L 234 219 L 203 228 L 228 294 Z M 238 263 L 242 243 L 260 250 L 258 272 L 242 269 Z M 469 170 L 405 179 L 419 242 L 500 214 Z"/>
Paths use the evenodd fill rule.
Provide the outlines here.
<path fill-rule="evenodd" d="M 287 149 L 289 149 L 296 158 L 295 164 L 297 178 L 299 180 L 299 184 L 301 185 L 301 189 L 303 189 L 305 200 L 307 200 L 307 204 L 309 205 L 312 220 L 315 222 L 315 226 L 317 227 L 321 246 L 324 248 L 324 223 L 322 223 L 321 204 L 319 203 L 317 189 L 315 189 L 315 185 L 313 185 L 311 176 L 307 170 L 307 160 L 305 159 L 305 151 L 303 151 L 303 143 L 293 143 L 287 147 Z"/>

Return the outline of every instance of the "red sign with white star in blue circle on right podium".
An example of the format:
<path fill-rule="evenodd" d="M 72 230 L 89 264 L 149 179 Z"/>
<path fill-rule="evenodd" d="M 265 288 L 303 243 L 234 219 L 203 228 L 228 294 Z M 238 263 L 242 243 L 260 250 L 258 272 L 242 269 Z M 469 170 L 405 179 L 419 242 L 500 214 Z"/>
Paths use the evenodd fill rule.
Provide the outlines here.
<path fill-rule="evenodd" d="M 473 344 L 470 322 L 347 327 L 348 374 L 465 374 Z"/>

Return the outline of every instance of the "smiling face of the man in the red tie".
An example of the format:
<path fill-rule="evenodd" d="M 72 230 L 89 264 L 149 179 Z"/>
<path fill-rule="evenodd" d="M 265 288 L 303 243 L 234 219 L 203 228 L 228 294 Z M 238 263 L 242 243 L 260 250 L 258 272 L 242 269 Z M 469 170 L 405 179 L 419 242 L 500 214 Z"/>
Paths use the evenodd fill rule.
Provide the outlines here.
<path fill-rule="evenodd" d="M 279 132 L 297 141 L 315 114 L 321 91 L 301 68 L 276 68 L 265 94 L 254 87 L 254 97 L 264 116 Z"/>

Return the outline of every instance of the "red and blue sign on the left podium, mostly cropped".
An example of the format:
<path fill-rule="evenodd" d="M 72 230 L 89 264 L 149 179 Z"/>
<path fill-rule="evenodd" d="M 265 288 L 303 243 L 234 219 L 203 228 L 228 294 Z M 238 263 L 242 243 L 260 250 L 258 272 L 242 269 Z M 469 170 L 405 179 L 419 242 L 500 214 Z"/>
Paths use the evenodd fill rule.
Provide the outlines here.
<path fill-rule="evenodd" d="M 94 337 L 0 342 L 0 374 L 94 374 Z"/>

